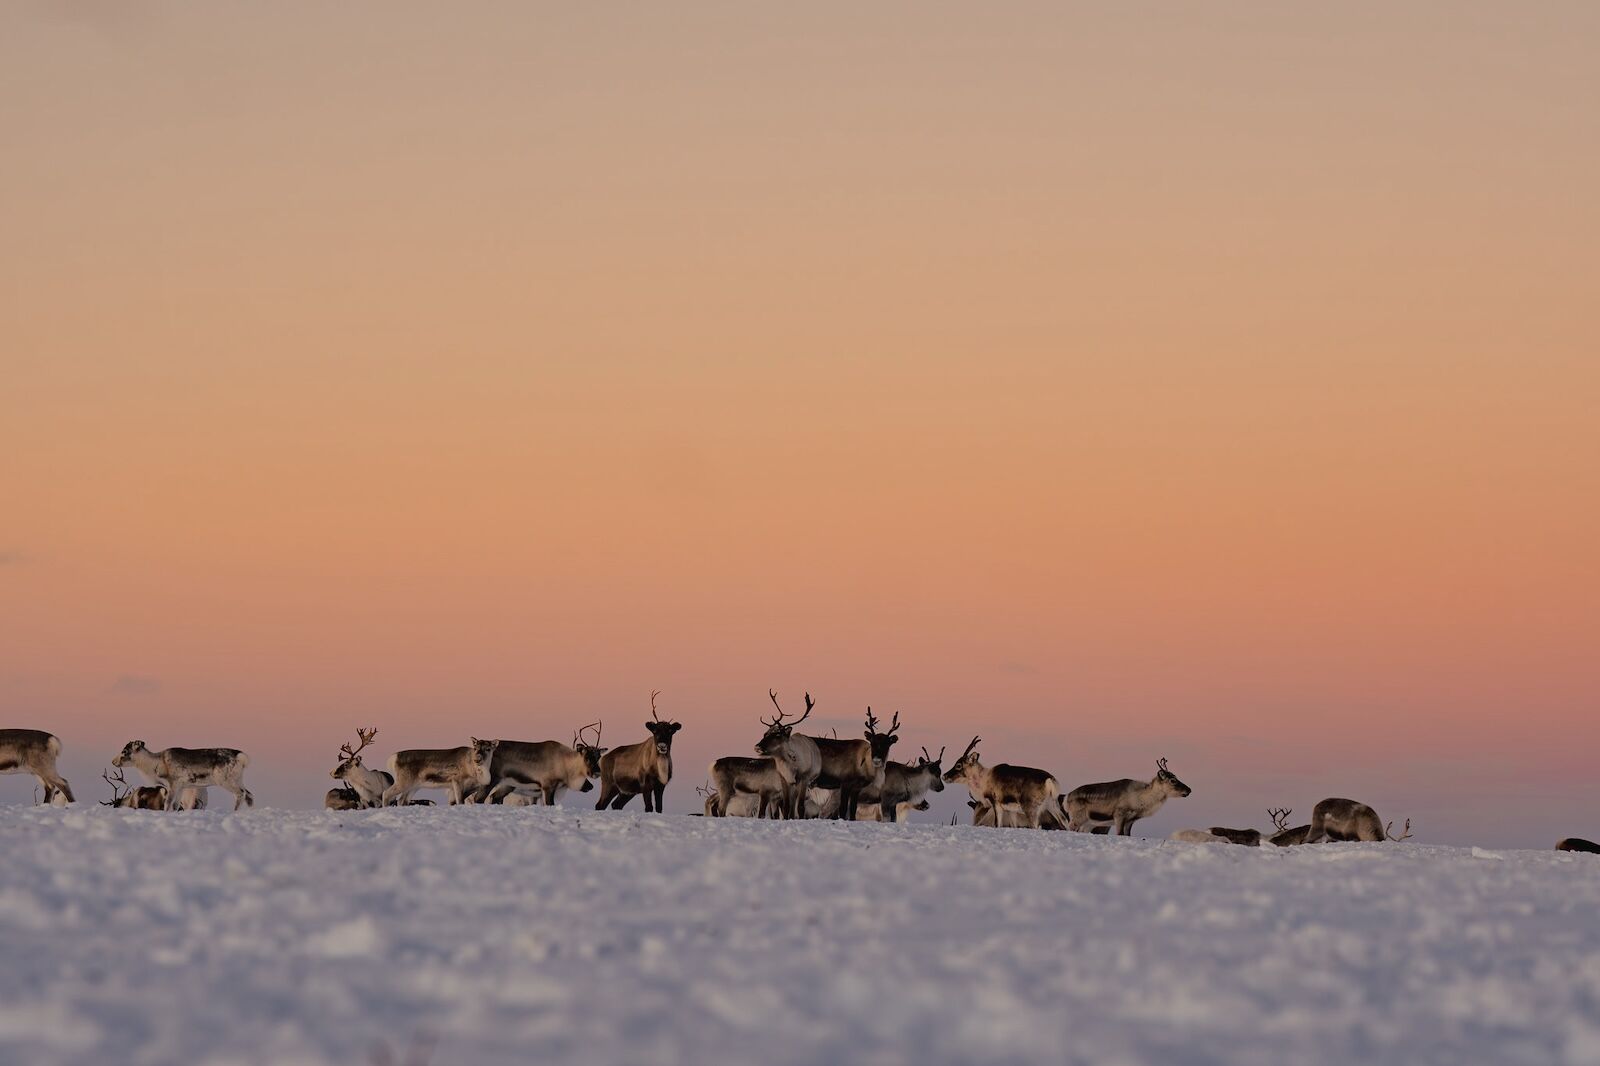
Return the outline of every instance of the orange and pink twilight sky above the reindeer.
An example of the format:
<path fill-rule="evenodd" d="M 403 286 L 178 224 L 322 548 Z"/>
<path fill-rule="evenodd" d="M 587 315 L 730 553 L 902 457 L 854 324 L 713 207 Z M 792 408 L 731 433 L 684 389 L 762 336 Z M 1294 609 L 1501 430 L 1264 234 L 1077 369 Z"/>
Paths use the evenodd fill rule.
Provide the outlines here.
<path fill-rule="evenodd" d="M 661 690 L 688 810 L 771 687 L 1600 836 L 1600 10 L 579 6 L 0 6 L 0 725 L 85 797 Z"/>

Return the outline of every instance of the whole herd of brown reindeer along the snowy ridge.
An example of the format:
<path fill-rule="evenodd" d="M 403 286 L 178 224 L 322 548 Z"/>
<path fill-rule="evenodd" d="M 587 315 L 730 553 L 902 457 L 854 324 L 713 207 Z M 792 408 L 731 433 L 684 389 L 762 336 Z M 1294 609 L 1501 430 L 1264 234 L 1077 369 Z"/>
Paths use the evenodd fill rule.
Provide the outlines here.
<path fill-rule="evenodd" d="M 554 805 L 562 792 L 590 792 L 600 783 L 595 810 L 626 807 L 643 795 L 646 812 L 662 812 L 666 787 L 672 781 L 672 739 L 682 723 L 662 720 L 656 711 L 659 691 L 650 693 L 646 739 L 621 747 L 602 747 L 602 723 L 592 722 L 562 741 L 512 741 L 469 738 L 461 747 L 411 747 L 387 759 L 387 770 L 363 763 L 362 752 L 378 736 L 376 728 L 357 730 L 357 744 L 339 747 L 330 776 L 339 781 L 328 789 L 323 805 L 330 810 L 363 810 L 429 804 L 414 799 L 421 789 L 445 789 L 451 804 Z M 974 736 L 960 757 L 942 770 L 944 747 L 926 747 L 914 762 L 894 762 L 890 749 L 899 741 L 899 714 L 880 728 L 867 707 L 861 739 L 800 733 L 816 701 L 805 695 L 805 711 L 790 719 L 776 691 L 768 691 L 771 719 L 760 717 L 763 731 L 755 741 L 755 757 L 725 755 L 710 763 L 709 779 L 696 791 L 704 795 L 707 818 L 837 818 L 846 821 L 907 820 L 912 810 L 928 810 L 928 794 L 946 784 L 965 784 L 974 826 L 1067 829 L 1131 836 L 1133 826 L 1158 812 L 1168 799 L 1182 799 L 1192 789 L 1178 779 L 1165 759 L 1155 760 L 1150 779 L 1123 778 L 1082 784 L 1061 792 L 1054 775 L 1035 767 L 995 763 L 986 767 Z M 43 802 L 74 802 L 72 786 L 56 770 L 61 741 L 40 730 L 0 730 L 0 773 L 30 773 L 43 787 Z M 110 784 L 110 807 L 136 810 L 197 810 L 206 805 L 206 789 L 234 794 L 234 810 L 251 807 L 254 797 L 243 784 L 250 757 L 232 747 L 166 747 L 150 751 L 144 741 L 128 741 L 112 759 L 114 770 L 102 778 Z M 147 781 L 130 786 L 125 768 L 136 768 Z M 1291 828 L 1290 808 L 1269 808 L 1274 829 L 1179 829 L 1168 839 L 1186 844 L 1235 844 L 1245 847 L 1291 847 L 1323 840 L 1406 840 L 1411 821 L 1400 836 L 1366 804 L 1325 799 L 1312 810 L 1310 823 Z M 950 824 L 955 824 L 952 816 Z M 1581 837 L 1557 844 L 1565 852 L 1600 852 Z"/>

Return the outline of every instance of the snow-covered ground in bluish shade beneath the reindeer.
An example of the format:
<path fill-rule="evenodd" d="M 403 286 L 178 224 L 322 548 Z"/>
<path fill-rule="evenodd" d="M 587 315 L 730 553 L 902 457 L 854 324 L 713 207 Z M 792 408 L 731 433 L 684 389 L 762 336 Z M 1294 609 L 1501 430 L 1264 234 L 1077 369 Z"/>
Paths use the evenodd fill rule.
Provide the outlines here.
<path fill-rule="evenodd" d="M 1600 1063 L 1589 855 L 565 808 L 0 840 L 6 1064 Z"/>

